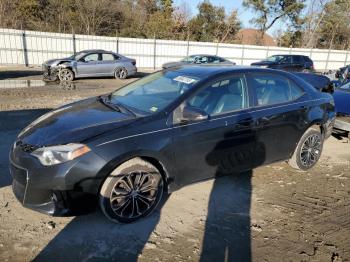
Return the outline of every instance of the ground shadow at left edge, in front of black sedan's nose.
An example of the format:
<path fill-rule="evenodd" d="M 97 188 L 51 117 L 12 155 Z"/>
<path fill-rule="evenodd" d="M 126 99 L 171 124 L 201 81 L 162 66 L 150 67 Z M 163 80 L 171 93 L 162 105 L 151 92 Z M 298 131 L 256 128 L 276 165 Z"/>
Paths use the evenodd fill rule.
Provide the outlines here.
<path fill-rule="evenodd" d="M 9 172 L 9 152 L 18 133 L 49 109 L 0 112 L 0 188 L 12 183 Z"/>

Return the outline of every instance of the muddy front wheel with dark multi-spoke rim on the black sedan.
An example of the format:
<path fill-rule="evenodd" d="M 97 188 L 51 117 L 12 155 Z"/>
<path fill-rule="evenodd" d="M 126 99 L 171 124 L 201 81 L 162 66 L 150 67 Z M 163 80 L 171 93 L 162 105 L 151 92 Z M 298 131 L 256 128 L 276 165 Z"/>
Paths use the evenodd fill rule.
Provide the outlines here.
<path fill-rule="evenodd" d="M 104 181 L 99 205 L 115 223 L 131 223 L 154 211 L 164 193 L 159 170 L 142 160 L 131 159 L 118 166 Z"/>

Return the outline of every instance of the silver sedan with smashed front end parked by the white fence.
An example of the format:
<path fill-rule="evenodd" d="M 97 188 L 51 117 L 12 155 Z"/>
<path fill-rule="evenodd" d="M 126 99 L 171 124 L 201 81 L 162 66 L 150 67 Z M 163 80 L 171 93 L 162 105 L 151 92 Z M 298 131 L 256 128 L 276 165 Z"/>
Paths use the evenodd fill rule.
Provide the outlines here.
<path fill-rule="evenodd" d="M 72 81 L 82 77 L 125 79 L 137 72 L 136 60 L 105 50 L 84 50 L 43 63 L 44 79 Z"/>

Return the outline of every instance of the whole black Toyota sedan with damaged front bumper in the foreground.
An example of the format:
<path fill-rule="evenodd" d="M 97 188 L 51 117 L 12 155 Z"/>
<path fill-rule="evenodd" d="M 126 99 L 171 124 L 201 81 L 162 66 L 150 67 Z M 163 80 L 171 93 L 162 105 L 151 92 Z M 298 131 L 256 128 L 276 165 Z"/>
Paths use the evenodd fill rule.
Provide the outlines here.
<path fill-rule="evenodd" d="M 10 152 L 13 191 L 50 215 L 84 203 L 132 222 L 193 182 L 282 160 L 311 168 L 334 117 L 329 94 L 287 72 L 171 68 L 31 123 Z"/>

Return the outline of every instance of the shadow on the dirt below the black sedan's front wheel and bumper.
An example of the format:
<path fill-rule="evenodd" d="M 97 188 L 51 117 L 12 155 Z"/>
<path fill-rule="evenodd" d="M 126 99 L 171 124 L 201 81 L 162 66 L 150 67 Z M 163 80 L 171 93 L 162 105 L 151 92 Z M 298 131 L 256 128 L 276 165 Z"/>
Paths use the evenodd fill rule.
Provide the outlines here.
<path fill-rule="evenodd" d="M 98 211 L 75 217 L 33 261 L 137 261 L 166 200 L 150 216 L 130 224 L 110 222 Z"/>

